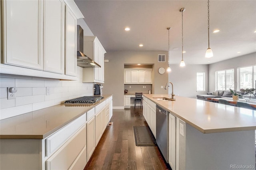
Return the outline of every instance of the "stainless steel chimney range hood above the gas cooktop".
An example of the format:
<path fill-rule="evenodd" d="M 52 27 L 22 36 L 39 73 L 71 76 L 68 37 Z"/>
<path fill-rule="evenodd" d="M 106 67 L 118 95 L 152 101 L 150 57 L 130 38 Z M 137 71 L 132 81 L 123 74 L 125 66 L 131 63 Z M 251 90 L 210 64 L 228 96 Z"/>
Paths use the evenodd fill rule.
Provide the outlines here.
<path fill-rule="evenodd" d="M 77 25 L 77 65 L 85 68 L 101 67 L 84 53 L 84 30 Z"/>

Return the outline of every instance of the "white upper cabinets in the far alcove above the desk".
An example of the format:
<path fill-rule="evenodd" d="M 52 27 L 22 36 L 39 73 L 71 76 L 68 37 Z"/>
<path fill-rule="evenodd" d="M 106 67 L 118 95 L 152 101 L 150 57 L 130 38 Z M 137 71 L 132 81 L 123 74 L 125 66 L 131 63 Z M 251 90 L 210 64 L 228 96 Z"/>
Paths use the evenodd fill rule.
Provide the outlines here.
<path fill-rule="evenodd" d="M 152 84 L 152 69 L 124 69 L 124 84 Z"/>

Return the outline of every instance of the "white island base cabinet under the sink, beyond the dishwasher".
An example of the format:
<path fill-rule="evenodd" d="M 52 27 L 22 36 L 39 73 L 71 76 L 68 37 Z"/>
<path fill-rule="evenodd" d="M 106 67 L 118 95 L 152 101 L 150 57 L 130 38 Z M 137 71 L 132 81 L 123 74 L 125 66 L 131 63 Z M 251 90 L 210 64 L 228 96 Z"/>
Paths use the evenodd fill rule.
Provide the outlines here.
<path fill-rule="evenodd" d="M 143 116 L 156 138 L 156 104 L 148 98 L 143 98 Z"/>

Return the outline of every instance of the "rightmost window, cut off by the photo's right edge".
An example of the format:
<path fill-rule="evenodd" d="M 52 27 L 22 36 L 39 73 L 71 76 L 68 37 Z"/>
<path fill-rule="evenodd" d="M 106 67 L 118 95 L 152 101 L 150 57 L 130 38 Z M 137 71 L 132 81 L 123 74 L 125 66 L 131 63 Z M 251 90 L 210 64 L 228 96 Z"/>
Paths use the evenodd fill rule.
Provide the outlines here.
<path fill-rule="evenodd" d="M 237 69 L 238 89 L 255 88 L 256 85 L 256 65 L 240 67 Z"/>

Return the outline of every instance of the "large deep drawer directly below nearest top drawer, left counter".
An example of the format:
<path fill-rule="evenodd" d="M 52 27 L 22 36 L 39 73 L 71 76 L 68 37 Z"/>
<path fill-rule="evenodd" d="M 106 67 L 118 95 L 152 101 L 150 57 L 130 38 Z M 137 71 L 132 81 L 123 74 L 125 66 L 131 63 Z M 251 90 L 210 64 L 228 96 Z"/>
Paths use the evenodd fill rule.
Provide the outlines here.
<path fill-rule="evenodd" d="M 86 146 L 86 125 L 46 160 L 46 170 L 68 170 Z"/>

